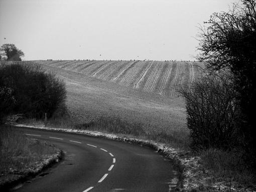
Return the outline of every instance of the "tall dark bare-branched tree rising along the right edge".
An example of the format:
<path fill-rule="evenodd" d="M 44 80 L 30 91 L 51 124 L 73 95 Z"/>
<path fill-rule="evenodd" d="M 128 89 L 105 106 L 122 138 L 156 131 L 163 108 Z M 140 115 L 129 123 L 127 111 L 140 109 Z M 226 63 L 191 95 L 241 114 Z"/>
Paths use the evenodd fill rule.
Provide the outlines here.
<path fill-rule="evenodd" d="M 214 13 L 201 27 L 199 61 L 213 71 L 228 69 L 240 106 L 244 148 L 256 159 L 256 1 L 242 0 L 225 13 Z M 254 158 L 253 158 L 254 157 Z M 255 163 L 255 162 L 254 162 Z M 256 165 L 256 163 L 255 163 Z M 256 167 L 256 166 L 255 166 Z"/>

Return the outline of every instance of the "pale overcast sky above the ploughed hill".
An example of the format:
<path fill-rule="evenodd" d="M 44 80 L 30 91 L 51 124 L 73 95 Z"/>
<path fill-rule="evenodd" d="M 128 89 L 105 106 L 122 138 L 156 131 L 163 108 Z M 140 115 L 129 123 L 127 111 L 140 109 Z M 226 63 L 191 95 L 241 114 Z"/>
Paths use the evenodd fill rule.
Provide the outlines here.
<path fill-rule="evenodd" d="M 232 2 L 0 0 L 0 45 L 23 60 L 194 60 L 197 27 Z"/>

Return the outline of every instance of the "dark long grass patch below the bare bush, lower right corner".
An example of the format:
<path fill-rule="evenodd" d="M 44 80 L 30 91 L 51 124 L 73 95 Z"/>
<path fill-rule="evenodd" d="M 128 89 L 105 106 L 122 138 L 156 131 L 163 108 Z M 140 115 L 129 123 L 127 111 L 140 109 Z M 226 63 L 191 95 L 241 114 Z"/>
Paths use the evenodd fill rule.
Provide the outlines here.
<path fill-rule="evenodd" d="M 208 168 L 214 180 L 225 181 L 231 185 L 237 182 L 245 187 L 255 187 L 255 174 L 244 162 L 243 153 L 239 150 L 222 151 L 210 148 L 201 151 L 201 164 Z"/>

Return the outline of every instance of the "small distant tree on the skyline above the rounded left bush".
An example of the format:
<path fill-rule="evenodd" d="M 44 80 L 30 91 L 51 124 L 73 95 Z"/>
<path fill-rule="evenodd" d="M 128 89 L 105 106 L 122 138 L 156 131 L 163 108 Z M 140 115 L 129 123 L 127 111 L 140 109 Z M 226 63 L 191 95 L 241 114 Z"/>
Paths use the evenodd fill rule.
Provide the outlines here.
<path fill-rule="evenodd" d="M 14 44 L 4 44 L 0 48 L 0 55 L 5 55 L 8 61 L 21 61 L 24 53 Z"/>

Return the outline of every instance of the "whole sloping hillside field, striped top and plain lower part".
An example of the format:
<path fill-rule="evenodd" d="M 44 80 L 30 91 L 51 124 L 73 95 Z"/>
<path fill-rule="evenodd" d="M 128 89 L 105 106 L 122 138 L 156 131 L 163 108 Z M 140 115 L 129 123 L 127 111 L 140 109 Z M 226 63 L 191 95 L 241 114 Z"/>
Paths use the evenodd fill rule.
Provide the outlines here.
<path fill-rule="evenodd" d="M 177 90 L 200 77 L 197 62 L 33 61 L 63 79 L 72 119 L 98 117 L 140 122 L 148 132 L 187 135 L 186 111 Z"/>

